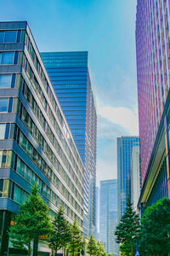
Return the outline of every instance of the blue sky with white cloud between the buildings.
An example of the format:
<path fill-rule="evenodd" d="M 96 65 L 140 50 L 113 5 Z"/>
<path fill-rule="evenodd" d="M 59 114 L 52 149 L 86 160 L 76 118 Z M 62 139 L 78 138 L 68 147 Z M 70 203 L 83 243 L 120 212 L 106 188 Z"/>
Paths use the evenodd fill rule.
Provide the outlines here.
<path fill-rule="evenodd" d="M 139 134 L 136 0 L 6 0 L 0 17 L 28 21 L 40 52 L 88 50 L 98 113 L 97 184 L 116 178 L 116 137 Z"/>

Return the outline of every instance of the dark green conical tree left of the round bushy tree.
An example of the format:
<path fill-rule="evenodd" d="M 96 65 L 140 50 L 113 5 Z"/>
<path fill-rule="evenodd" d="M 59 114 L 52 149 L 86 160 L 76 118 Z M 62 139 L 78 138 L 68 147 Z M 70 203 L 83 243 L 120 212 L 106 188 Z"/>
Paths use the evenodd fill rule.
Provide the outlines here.
<path fill-rule="evenodd" d="M 125 213 L 116 226 L 116 242 L 120 243 L 121 253 L 133 256 L 136 240 L 139 236 L 139 216 L 133 211 L 133 204 L 128 199 Z"/>

